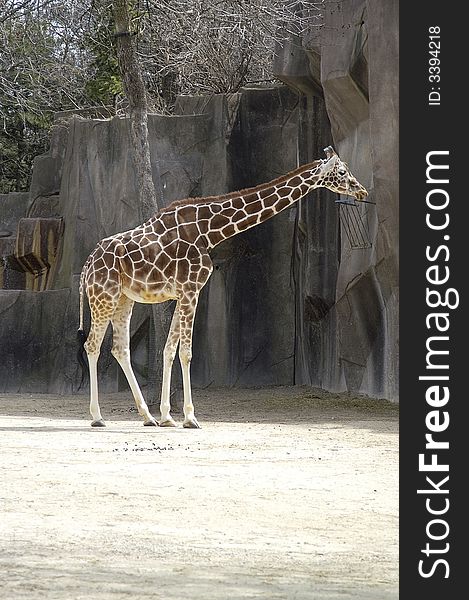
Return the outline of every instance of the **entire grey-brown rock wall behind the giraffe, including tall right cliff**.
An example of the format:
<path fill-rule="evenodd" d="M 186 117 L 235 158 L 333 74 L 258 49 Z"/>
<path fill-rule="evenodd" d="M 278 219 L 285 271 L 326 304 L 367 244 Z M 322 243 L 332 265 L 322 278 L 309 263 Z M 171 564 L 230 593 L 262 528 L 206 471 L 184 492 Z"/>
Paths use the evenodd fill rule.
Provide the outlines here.
<path fill-rule="evenodd" d="M 325 6 L 323 28 L 279 50 L 275 69 L 289 87 L 181 97 L 175 116 L 150 118 L 165 204 L 268 181 L 322 157 L 330 143 L 376 202 L 361 209 L 369 248 L 350 247 L 337 196 L 317 190 L 215 249 L 195 322 L 196 386 L 307 383 L 397 399 L 397 3 Z M 103 116 L 61 115 L 29 197 L 0 197 L 1 391 L 77 390 L 82 265 L 99 239 L 141 222 L 128 121 Z M 42 288 L 6 260 L 18 252 L 22 217 L 31 231 L 58 232 L 53 247 L 20 244 L 20 264 L 31 263 L 30 247 L 40 264 L 52 248 Z M 160 335 L 155 350 L 152 332 L 150 308 L 136 305 L 131 351 L 143 385 L 164 344 Z M 110 336 L 100 385 L 116 390 L 127 384 L 109 346 Z"/>

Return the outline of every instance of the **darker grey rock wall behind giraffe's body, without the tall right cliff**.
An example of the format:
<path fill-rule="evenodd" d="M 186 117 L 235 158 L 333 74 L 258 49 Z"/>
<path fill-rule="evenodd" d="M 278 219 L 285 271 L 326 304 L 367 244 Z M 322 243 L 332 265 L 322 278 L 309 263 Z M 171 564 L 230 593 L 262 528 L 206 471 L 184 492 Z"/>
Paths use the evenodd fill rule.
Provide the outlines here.
<path fill-rule="evenodd" d="M 318 100 L 316 109 L 321 110 L 321 104 Z M 299 147 L 308 145 L 304 140 L 300 143 L 304 135 L 315 139 L 315 152 L 321 156 L 322 148 L 330 142 L 327 118 L 322 108 L 315 116 L 322 128 L 312 131 L 316 128 L 313 122 L 308 127 L 302 125 L 308 120 L 309 110 L 310 107 L 299 102 L 296 93 L 285 86 L 274 86 L 245 89 L 231 97 L 180 98 L 176 116 L 151 116 L 154 172 L 161 175 L 163 203 L 269 181 L 297 166 Z M 121 118 L 72 118 L 66 134 L 62 128 L 52 141 L 49 155 L 40 157 L 36 163 L 40 174 L 33 176 L 28 216 L 34 214 L 36 220 L 49 218 L 53 222 L 60 215 L 63 222 L 59 266 L 50 282 L 51 293 L 38 293 L 33 303 L 36 315 L 49 315 L 48 311 L 54 314 L 51 305 L 56 302 L 56 314 L 60 315 L 46 334 L 47 341 L 34 345 L 34 352 L 38 353 L 37 373 L 47 369 L 51 347 L 68 349 L 60 360 L 54 361 L 54 376 L 33 377 L 34 385 L 41 391 L 62 392 L 78 387 L 80 373 L 73 350 L 78 311 L 74 310 L 78 306 L 82 265 L 98 240 L 141 222 L 128 126 L 128 121 Z M 46 166 L 55 173 L 45 173 Z M 49 189 L 44 183 L 47 181 Z M 312 196 L 311 202 L 320 202 L 322 210 L 327 208 L 332 215 L 330 245 L 335 247 L 334 196 L 325 191 Z M 325 200 L 327 196 L 329 201 Z M 282 213 L 215 249 L 214 273 L 202 293 L 195 323 L 194 385 L 295 382 L 297 330 L 291 266 L 296 215 L 295 209 Z M 317 216 L 322 218 L 320 212 Z M 39 338 L 44 335 L 44 325 L 41 329 L 36 317 L 21 319 L 18 313 L 27 314 L 26 305 L 30 301 L 30 292 L 0 292 L 0 311 L 10 324 L 5 329 L 9 335 L 20 322 L 28 339 L 35 337 L 34 332 Z M 41 308 L 42 303 L 47 307 Z M 154 360 L 151 332 L 149 307 L 136 305 L 131 331 L 132 356 L 143 384 Z M 157 341 L 159 350 L 164 337 Z M 109 355 L 109 347 L 108 335 L 99 369 L 104 390 L 126 385 Z M 25 364 L 20 345 L 12 345 L 6 339 L 5 351 L 10 361 L 3 373 L 0 366 L 3 389 L 30 389 L 30 378 L 22 377 Z"/>

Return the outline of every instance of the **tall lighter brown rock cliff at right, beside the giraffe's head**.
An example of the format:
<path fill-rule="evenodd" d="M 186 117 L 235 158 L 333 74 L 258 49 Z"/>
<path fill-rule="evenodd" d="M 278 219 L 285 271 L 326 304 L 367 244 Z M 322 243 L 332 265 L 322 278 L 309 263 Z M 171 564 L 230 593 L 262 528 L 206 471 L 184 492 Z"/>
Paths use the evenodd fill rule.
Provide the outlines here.
<path fill-rule="evenodd" d="M 376 207 L 362 209 L 371 248 L 351 248 L 341 232 L 333 302 L 300 277 L 297 314 L 308 333 L 297 338 L 296 379 L 397 399 L 398 2 L 344 0 L 325 11 L 321 28 L 279 49 L 275 71 L 309 101 L 324 98 L 334 145 Z M 308 229 L 305 244 L 315 238 Z"/>

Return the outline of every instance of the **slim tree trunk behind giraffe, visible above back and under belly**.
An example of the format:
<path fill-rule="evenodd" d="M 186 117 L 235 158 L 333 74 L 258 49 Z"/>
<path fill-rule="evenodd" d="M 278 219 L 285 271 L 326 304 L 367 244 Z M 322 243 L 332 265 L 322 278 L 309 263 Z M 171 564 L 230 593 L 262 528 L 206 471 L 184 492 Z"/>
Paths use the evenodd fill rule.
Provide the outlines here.
<path fill-rule="evenodd" d="M 137 53 L 132 43 L 127 0 L 113 0 L 112 10 L 115 22 L 117 58 L 124 92 L 129 103 L 130 137 L 134 158 L 136 190 L 139 197 L 140 217 L 146 221 L 164 202 L 161 182 L 156 164 L 156 177 L 153 180 L 150 144 L 148 141 L 148 100 Z M 154 304 L 151 309 L 148 347 L 148 404 L 158 402 L 157 388 L 161 387 L 163 376 L 163 348 L 171 324 L 172 311 L 166 304 Z M 174 379 L 176 381 L 174 381 Z M 173 379 L 176 383 L 180 377 Z M 173 387 L 173 386 L 172 386 Z M 174 396 L 174 393 L 172 394 Z"/>

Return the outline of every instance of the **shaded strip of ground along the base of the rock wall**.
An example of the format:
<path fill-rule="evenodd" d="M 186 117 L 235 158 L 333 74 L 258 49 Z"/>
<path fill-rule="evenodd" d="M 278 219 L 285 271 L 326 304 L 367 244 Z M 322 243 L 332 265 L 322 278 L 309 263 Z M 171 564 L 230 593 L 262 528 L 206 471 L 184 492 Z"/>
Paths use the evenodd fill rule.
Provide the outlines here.
<path fill-rule="evenodd" d="M 373 423 L 396 421 L 399 406 L 383 399 L 369 398 L 350 393 L 331 393 L 307 386 L 280 386 L 271 388 L 210 388 L 194 390 L 196 415 L 204 422 L 223 423 L 273 423 L 273 424 L 317 424 L 332 423 L 347 426 L 353 421 L 354 427 L 373 429 Z M 100 406 L 107 422 L 139 422 L 130 391 L 102 394 Z M 158 419 L 157 405 L 150 406 L 151 413 Z M 181 424 L 182 407 L 178 402 L 172 414 Z M 40 417 L 50 419 L 79 419 L 89 426 L 88 396 L 50 394 L 4 394 L 0 395 L 0 415 L 14 417 Z M 38 425 L 18 424 L 18 430 L 56 430 Z M 76 431 L 65 426 L 61 430 Z M 143 429 L 143 427 L 142 427 Z M 145 428 L 147 431 L 149 428 Z M 151 428 L 153 429 L 153 428 Z M 93 429 L 93 431 L 96 431 Z"/>

